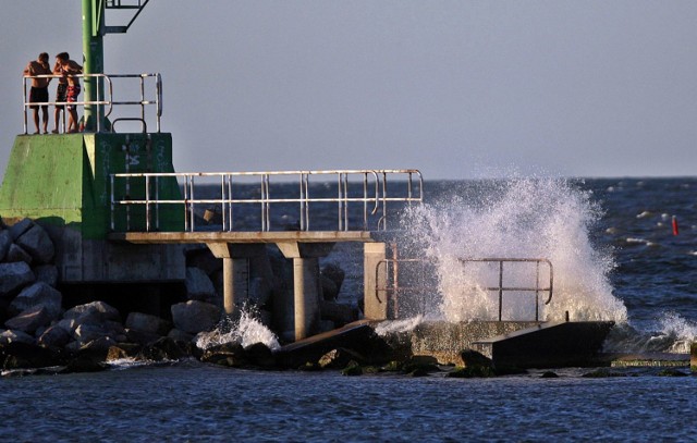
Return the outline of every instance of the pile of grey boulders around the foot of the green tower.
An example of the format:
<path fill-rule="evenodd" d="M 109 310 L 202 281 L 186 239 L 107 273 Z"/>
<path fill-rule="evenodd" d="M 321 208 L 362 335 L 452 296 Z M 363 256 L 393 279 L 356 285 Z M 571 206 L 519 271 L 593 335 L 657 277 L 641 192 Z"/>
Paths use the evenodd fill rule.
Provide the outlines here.
<path fill-rule="evenodd" d="M 57 288 L 54 255 L 54 245 L 39 224 L 25 219 L 8 227 L 0 221 L 0 325 L 4 327 L 0 327 L 1 370 L 53 367 L 60 372 L 94 371 L 122 358 L 160 361 L 183 357 L 234 367 L 277 366 L 273 353 L 262 344 L 246 348 L 239 344 L 208 349 L 196 346 L 197 335 L 216 329 L 223 317 L 222 267 L 206 248 L 188 251 L 187 299 L 172 305 L 168 319 L 120 312 L 101 300 L 66 309 Z M 350 308 L 338 307 L 334 302 L 343 278 L 337 266 L 322 270 L 322 309 L 328 312 L 330 329 L 356 319 Z M 265 309 L 271 309 L 272 292 L 283 285 L 280 280 L 252 276 L 250 302 L 269 329 L 271 315 Z M 268 281 L 271 283 L 264 283 Z"/>

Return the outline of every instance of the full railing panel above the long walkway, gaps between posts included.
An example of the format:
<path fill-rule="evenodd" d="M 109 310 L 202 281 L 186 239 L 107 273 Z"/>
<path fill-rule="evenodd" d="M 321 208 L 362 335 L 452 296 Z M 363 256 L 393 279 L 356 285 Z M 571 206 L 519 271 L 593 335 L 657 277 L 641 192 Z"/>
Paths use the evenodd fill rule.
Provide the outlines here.
<path fill-rule="evenodd" d="M 180 197 L 160 196 L 160 184 L 168 180 L 176 180 Z M 296 190 L 289 196 L 293 183 Z M 277 185 L 283 185 L 283 192 Z M 111 174 L 111 230 L 119 225 L 126 231 L 160 231 L 162 208 L 180 206 L 186 232 L 384 231 L 388 206 L 398 210 L 423 199 L 424 180 L 413 169 L 119 173 Z M 337 213 L 333 230 L 327 227 L 330 206 Z M 283 213 L 274 213 L 281 207 Z M 296 209 L 289 218 L 290 207 Z M 240 221 L 249 213 L 256 213 L 258 224 L 241 227 Z M 208 223 L 211 219 L 216 221 Z"/>

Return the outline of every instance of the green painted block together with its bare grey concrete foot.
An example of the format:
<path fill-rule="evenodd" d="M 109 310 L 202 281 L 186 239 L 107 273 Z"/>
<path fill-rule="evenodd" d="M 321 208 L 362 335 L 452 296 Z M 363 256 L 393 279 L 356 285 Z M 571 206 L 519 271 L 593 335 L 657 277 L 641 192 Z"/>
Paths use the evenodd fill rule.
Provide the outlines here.
<path fill-rule="evenodd" d="M 16 137 L 2 187 L 0 216 L 8 224 L 30 218 L 45 226 L 57 247 L 61 282 L 171 282 L 185 278 L 184 256 L 176 245 L 123 245 L 107 239 L 112 231 L 145 231 L 146 210 L 117 207 L 119 198 L 144 189 L 144 179 L 114 182 L 111 174 L 174 172 L 168 133 L 84 133 Z M 176 180 L 151 183 L 151 196 L 181 199 Z M 145 197 L 131 195 L 131 197 Z M 150 212 L 152 225 L 183 231 L 184 208 Z"/>

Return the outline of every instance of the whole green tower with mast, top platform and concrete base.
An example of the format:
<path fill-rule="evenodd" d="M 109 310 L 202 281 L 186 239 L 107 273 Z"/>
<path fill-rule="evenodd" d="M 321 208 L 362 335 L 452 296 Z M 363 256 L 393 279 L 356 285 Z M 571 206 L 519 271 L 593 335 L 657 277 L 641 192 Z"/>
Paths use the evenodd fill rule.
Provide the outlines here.
<path fill-rule="evenodd" d="M 184 279 L 181 249 L 168 245 L 126 245 L 107 239 L 114 231 L 138 230 L 146 211 L 119 212 L 113 198 L 144 189 L 138 177 L 112 180 L 117 173 L 174 172 L 172 137 L 160 132 L 161 79 L 159 74 L 103 73 L 103 36 L 125 33 L 148 0 L 82 0 L 84 95 L 83 132 L 27 135 L 15 138 L 0 188 L 0 216 L 8 224 L 29 218 L 49 232 L 57 249 L 62 284 L 171 282 Z M 109 10 L 119 16 L 131 12 L 126 25 L 108 26 Z M 114 82 L 114 78 L 119 83 Z M 27 78 L 25 78 L 26 81 Z M 25 82 L 26 83 L 26 82 Z M 54 83 L 52 83 L 54 84 Z M 139 100 L 125 101 L 140 91 Z M 25 119 L 28 107 L 25 98 Z M 151 111 L 155 109 L 155 111 Z M 147 113 L 146 111 L 150 111 Z M 127 122 L 138 132 L 118 132 Z M 148 131 L 148 123 L 155 131 Z M 150 127 L 152 130 L 152 127 Z M 181 198 L 175 177 L 150 184 L 161 197 Z M 182 208 L 171 206 L 159 214 L 159 226 L 181 231 Z"/>

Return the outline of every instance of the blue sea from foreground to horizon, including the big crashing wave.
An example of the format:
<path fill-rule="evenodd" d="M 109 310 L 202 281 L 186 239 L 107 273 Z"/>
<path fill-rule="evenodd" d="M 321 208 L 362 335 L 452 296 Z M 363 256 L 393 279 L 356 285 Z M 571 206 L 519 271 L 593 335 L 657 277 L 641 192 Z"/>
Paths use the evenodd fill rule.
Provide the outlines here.
<path fill-rule="evenodd" d="M 473 282 L 455 258 L 545 257 L 554 295 L 539 303 L 542 319 L 615 321 L 608 353 L 684 360 L 697 340 L 697 177 L 425 181 L 424 205 L 391 222 L 404 257 L 433 263 L 427 308 L 403 328 L 492 315 L 490 297 L 463 293 Z M 346 270 L 346 304 L 363 292 L 355 253 L 338 245 L 326 259 Z M 511 302 L 504 315 L 527 306 Z M 259 329 L 245 330 L 273 339 Z M 594 370 L 454 379 L 121 361 L 98 373 L 0 378 L 0 441 L 697 441 L 688 367 L 587 377 Z"/>

